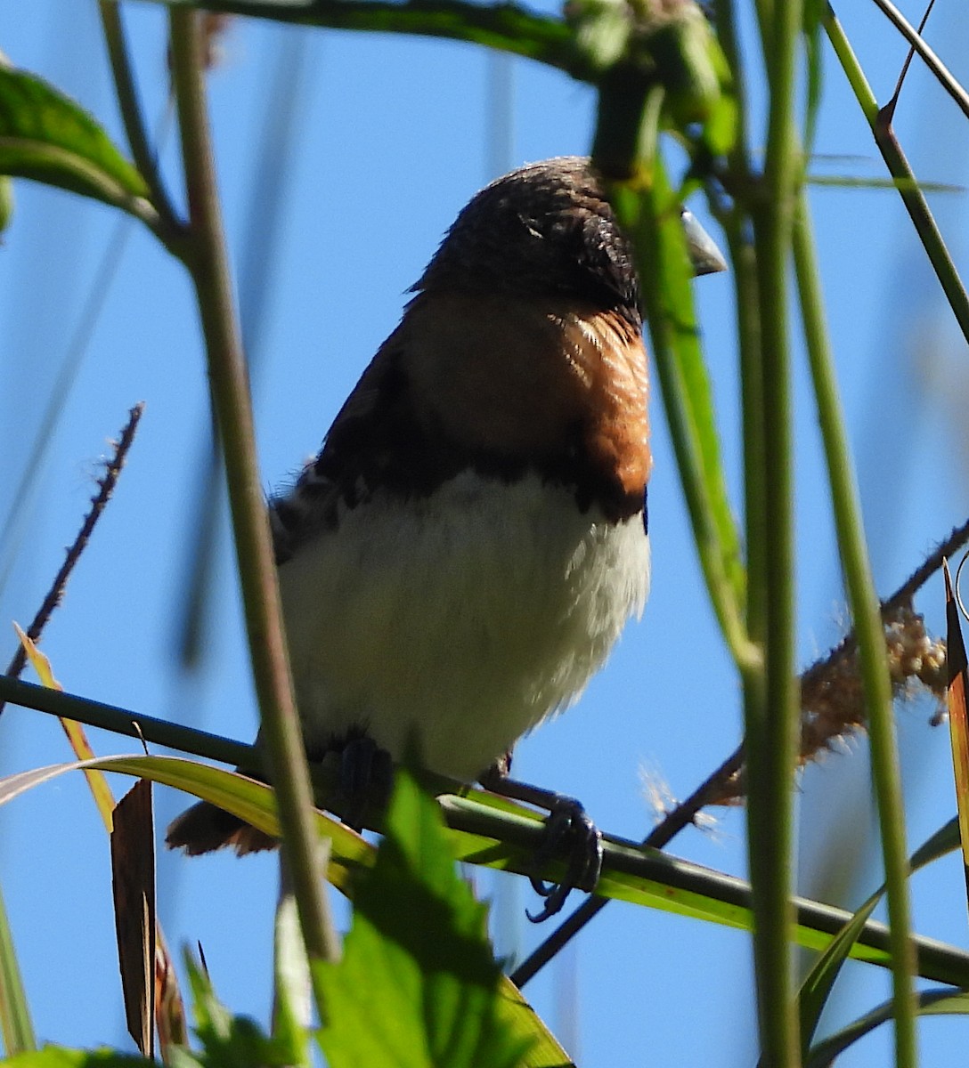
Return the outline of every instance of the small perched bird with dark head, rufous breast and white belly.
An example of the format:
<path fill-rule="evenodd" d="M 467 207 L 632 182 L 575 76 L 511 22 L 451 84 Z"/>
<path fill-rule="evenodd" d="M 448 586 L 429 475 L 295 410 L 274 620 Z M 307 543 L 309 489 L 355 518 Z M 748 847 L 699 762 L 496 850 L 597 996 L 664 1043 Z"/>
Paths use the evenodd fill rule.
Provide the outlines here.
<path fill-rule="evenodd" d="M 684 211 L 696 273 L 724 268 Z M 632 247 L 584 157 L 479 191 L 295 483 L 269 501 L 311 759 L 360 743 L 463 782 L 572 705 L 650 588 Z M 200 802 L 189 854 L 275 844 Z"/>

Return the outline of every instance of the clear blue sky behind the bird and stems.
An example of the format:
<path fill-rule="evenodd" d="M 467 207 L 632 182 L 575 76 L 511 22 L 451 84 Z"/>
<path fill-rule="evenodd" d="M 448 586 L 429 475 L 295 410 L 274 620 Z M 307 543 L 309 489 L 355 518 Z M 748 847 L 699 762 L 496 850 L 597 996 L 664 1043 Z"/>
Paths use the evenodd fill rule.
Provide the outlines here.
<path fill-rule="evenodd" d="M 912 4 L 905 10 L 918 18 Z M 850 15 L 846 28 L 884 100 L 904 60 L 902 42 L 873 9 L 840 14 Z M 126 15 L 145 110 L 163 127 L 162 13 L 131 4 Z M 956 47 L 969 29 L 965 14 L 941 7 L 933 18 L 929 41 L 965 79 L 965 49 Z M 0 0 L 0 47 L 16 65 L 63 88 L 124 143 L 93 3 L 36 0 L 25 13 L 15 0 Z M 264 218 L 279 201 L 278 244 L 260 254 L 252 272 L 265 286 L 254 393 L 268 489 L 318 447 L 458 208 L 501 170 L 587 152 L 594 96 L 535 64 L 496 62 L 470 46 L 426 40 L 237 20 L 223 52 L 210 77 L 213 120 L 226 224 L 250 309 L 253 283 L 243 267 L 248 220 L 253 213 Z M 828 51 L 826 68 L 813 169 L 880 176 L 877 152 Z M 269 192 L 254 198 L 267 100 L 280 70 L 297 85 L 293 147 L 270 172 Z M 496 82 L 511 99 L 511 126 L 502 136 L 494 130 L 501 97 Z M 922 177 L 966 185 L 969 136 L 959 117 L 916 64 L 897 126 Z M 181 200 L 171 141 L 166 173 Z M 932 202 L 965 266 L 965 194 L 934 194 Z M 702 204 L 691 206 L 704 217 Z M 888 593 L 969 508 L 960 418 L 966 346 L 896 197 L 818 188 L 812 207 L 876 579 Z M 106 256 L 114 262 L 108 250 L 119 241 L 116 270 L 105 285 Z M 703 279 L 696 292 L 739 502 L 730 280 Z M 14 500 L 93 293 L 100 308 L 44 461 L 29 492 Z M 799 348 L 796 365 L 799 653 L 808 663 L 839 637 L 845 610 Z M 94 491 L 106 440 L 138 400 L 146 402 L 146 411 L 128 467 L 44 648 L 68 690 L 248 740 L 255 709 L 224 516 L 203 655 L 191 672 L 178 658 L 207 433 L 187 279 L 137 224 L 69 194 L 18 184 L 13 226 L 0 248 L 0 515 L 19 517 L 15 536 L 0 544 L 0 634 L 6 621 L 25 624 L 33 615 Z M 654 578 L 645 616 L 628 629 L 581 703 L 528 738 L 516 757 L 522 778 L 580 797 L 604 829 L 632 837 L 653 819 L 643 772 L 676 796 L 688 794 L 734 748 L 740 720 L 737 680 L 706 603 L 658 395 L 652 417 Z M 937 582 L 920 607 L 938 629 Z M 12 653 L 13 632 L 5 632 Z M 897 710 L 912 846 L 953 813 L 948 736 L 928 727 L 933 710 L 925 701 Z M 91 739 L 99 753 L 126 751 L 111 736 L 92 732 Z M 48 717 L 10 708 L 0 719 L 0 773 L 67 755 Z M 871 843 L 865 755 L 863 741 L 853 743 L 806 776 L 806 884 L 815 850 L 828 848 L 835 834 L 857 835 L 837 851 L 844 863 L 864 855 Z M 116 783 L 118 792 L 124 785 Z M 181 803 L 159 791 L 159 827 Z M 740 812 L 718 813 L 713 832 L 688 831 L 672 851 L 743 875 Z M 878 881 L 877 869 L 863 870 L 848 901 L 860 901 Z M 527 951 L 543 933 L 523 918 L 529 892 L 489 876 L 478 882 L 484 894 L 497 895 L 502 952 Z M 38 1034 L 127 1048 L 107 843 L 80 776 L 0 810 L 0 884 Z M 936 865 L 915 890 L 920 932 L 965 945 L 958 862 Z M 201 939 L 222 998 L 260 1019 L 268 1011 L 273 898 L 269 858 L 160 858 L 170 943 Z M 832 1022 L 871 1007 L 887 990 L 880 972 L 851 967 Z M 583 1066 L 754 1059 L 750 947 L 741 933 L 612 905 L 527 993 Z M 841 1063 L 885 1064 L 888 1038 L 873 1037 Z M 965 1023 L 931 1021 L 923 1027 L 926 1063 L 965 1040 Z"/>

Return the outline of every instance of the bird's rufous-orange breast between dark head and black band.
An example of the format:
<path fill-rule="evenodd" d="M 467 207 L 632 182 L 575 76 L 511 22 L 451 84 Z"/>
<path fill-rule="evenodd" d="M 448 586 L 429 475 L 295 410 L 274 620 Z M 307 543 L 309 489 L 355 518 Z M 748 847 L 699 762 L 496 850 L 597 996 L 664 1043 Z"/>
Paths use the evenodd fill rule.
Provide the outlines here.
<path fill-rule="evenodd" d="M 422 422 L 471 454 L 574 475 L 611 519 L 641 509 L 646 354 L 622 315 L 575 299 L 427 293 L 404 329 Z"/>

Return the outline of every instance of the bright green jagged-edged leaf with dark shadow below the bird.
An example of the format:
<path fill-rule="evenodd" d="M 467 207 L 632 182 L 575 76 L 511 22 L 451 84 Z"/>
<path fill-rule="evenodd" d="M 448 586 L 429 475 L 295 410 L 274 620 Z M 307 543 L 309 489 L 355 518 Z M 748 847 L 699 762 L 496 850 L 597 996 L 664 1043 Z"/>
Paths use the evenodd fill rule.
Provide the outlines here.
<path fill-rule="evenodd" d="M 339 963 L 321 962 L 331 1068 L 516 1068 L 486 909 L 458 877 L 437 806 L 400 772 Z"/>

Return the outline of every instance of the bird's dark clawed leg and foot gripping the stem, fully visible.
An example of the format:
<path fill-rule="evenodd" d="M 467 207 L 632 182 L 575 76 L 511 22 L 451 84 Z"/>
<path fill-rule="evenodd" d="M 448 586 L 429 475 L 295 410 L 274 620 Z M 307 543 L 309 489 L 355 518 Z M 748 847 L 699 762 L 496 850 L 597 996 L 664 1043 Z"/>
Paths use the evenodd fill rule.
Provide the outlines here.
<path fill-rule="evenodd" d="M 480 782 L 495 794 L 548 812 L 545 833 L 535 850 L 535 867 L 544 867 L 553 857 L 560 855 L 563 848 L 569 850 L 565 878 L 560 883 L 549 884 L 537 876 L 529 876 L 535 893 L 545 898 L 545 905 L 537 915 L 530 912 L 526 915 L 532 923 L 541 924 L 561 911 L 574 886 L 589 893 L 595 890 L 603 867 L 603 837 L 579 801 L 510 778 L 511 763 L 511 753 L 507 753 L 481 776 Z"/>

